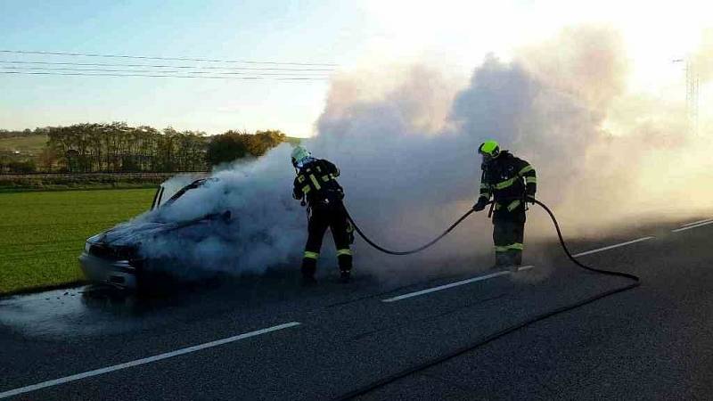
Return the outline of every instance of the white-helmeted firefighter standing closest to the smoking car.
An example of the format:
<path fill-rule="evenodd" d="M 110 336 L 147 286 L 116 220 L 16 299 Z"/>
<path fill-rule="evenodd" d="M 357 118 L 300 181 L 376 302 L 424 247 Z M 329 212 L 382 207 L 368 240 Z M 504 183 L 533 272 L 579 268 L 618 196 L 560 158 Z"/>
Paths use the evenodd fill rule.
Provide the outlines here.
<path fill-rule="evenodd" d="M 340 170 L 330 161 L 312 157 L 302 146 L 292 151 L 292 166 L 297 176 L 292 196 L 307 205 L 308 237 L 302 258 L 302 279 L 305 283 L 315 282 L 315 272 L 322 240 L 327 228 L 332 231 L 337 247 L 337 261 L 341 280 L 349 280 L 352 268 L 352 252 L 349 244 L 353 241 L 351 225 L 342 204 L 344 191 L 336 178 Z"/>

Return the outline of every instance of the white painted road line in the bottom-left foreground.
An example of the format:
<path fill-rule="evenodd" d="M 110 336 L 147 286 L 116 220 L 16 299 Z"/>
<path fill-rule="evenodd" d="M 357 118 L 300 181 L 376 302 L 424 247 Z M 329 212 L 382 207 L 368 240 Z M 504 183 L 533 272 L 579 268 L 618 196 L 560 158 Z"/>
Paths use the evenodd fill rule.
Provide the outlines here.
<path fill-rule="evenodd" d="M 79 381 L 82 379 L 86 379 L 87 377 L 99 376 L 100 374 L 104 374 L 104 373 L 120 371 L 122 369 L 127 369 L 127 368 L 138 366 L 141 364 L 151 364 L 152 362 L 157 362 L 157 361 L 160 361 L 163 359 L 168 359 L 168 358 L 174 357 L 174 356 L 190 354 L 192 352 L 200 351 L 201 349 L 213 348 L 213 347 L 217 347 L 217 346 L 220 346 L 223 344 L 227 344 L 229 342 L 249 339 L 250 337 L 256 337 L 256 336 L 259 336 L 261 334 L 266 334 L 271 331 L 278 331 L 278 330 L 283 330 L 283 329 L 287 329 L 287 328 L 294 327 L 294 326 L 299 326 L 299 324 L 300 324 L 299 322 L 279 324 L 279 325 L 276 325 L 273 327 L 268 327 L 266 329 L 262 329 L 262 330 L 258 330 L 258 331 L 250 331 L 250 332 L 246 332 L 244 334 L 240 334 L 240 335 L 237 335 L 234 337 L 228 337 L 228 338 L 222 339 L 222 340 L 215 340 L 215 341 L 207 342 L 205 344 L 199 344 L 199 345 L 196 345 L 193 347 L 176 349 L 176 351 L 167 352 L 165 354 L 160 354 L 157 356 L 149 356 L 149 357 L 143 358 L 143 359 L 136 359 L 135 361 L 127 362 L 125 364 L 115 364 L 113 366 L 105 367 L 102 369 L 96 369 L 94 371 L 78 373 L 78 374 L 73 374 L 71 376 L 62 377 L 60 379 L 55 379 L 53 381 L 43 381 L 41 383 L 33 384 L 31 386 L 22 387 L 20 389 L 12 389 L 9 391 L 4 391 L 3 393 L 0 393 L 0 398 L 13 397 L 13 396 L 17 396 L 20 394 L 29 393 L 31 391 L 36 391 L 38 389 L 46 389 L 48 387 L 53 387 L 53 386 L 57 386 L 59 384 L 68 383 L 70 381 Z"/>

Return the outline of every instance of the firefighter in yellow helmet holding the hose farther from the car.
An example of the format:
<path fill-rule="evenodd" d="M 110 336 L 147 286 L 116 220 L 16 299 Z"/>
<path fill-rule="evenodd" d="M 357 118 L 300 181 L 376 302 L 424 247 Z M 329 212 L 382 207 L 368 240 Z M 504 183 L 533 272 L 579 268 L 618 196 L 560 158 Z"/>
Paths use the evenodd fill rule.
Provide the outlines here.
<path fill-rule="evenodd" d="M 535 200 L 537 176 L 527 161 L 509 151 L 501 151 L 496 141 L 486 141 L 478 148 L 482 156 L 480 193 L 473 209 L 485 209 L 491 197 L 493 242 L 496 249 L 494 268 L 516 270 L 522 264 L 526 202 Z M 492 210 L 491 209 L 491 210 Z"/>

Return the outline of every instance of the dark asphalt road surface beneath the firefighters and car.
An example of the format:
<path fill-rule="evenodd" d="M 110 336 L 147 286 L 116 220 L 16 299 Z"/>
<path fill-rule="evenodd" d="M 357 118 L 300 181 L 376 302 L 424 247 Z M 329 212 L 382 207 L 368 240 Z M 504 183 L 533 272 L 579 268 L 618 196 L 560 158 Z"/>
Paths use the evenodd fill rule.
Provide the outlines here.
<path fill-rule="evenodd" d="M 713 224 L 674 231 L 685 223 L 575 242 L 596 250 L 583 262 L 643 284 L 359 398 L 709 398 Z M 463 268 L 348 285 L 330 276 L 308 289 L 287 275 L 165 299 L 86 289 L 0 299 L 0 398 L 339 398 L 628 284 L 578 269 L 554 243 L 529 260 L 517 274 Z"/>

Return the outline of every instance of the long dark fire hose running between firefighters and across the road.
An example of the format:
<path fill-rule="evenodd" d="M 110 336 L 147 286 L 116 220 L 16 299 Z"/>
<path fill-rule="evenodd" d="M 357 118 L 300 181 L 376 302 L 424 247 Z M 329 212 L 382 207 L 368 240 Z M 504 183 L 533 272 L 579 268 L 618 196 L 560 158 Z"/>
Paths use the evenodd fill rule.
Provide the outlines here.
<path fill-rule="evenodd" d="M 499 338 L 501 338 L 501 337 L 503 337 L 503 336 L 505 336 L 505 335 L 507 335 L 507 334 L 513 332 L 513 331 L 520 330 L 520 329 L 523 328 L 523 327 L 526 327 L 526 326 L 529 326 L 529 325 L 531 325 L 531 324 L 533 324 L 533 323 L 537 323 L 537 322 L 539 322 L 539 321 L 545 320 L 546 318 L 552 317 L 553 315 L 559 315 L 559 314 L 561 314 L 561 313 L 563 313 L 563 312 L 567 312 L 567 311 L 570 311 L 570 310 L 572 310 L 572 309 L 576 309 L 576 308 L 578 308 L 578 307 L 583 307 L 583 306 L 585 306 L 585 305 L 587 305 L 587 304 L 590 304 L 590 303 L 592 303 L 592 302 L 594 302 L 594 301 L 596 301 L 596 300 L 598 300 L 598 299 L 603 299 L 603 298 L 609 297 L 610 295 L 617 294 L 617 293 L 619 293 L 619 292 L 628 291 L 628 290 L 634 289 L 634 288 L 638 287 L 639 285 L 641 285 L 641 280 L 640 280 L 639 277 L 636 276 L 635 274 L 628 274 L 628 273 L 623 273 L 623 272 L 615 272 L 615 271 L 611 271 L 611 270 L 598 269 L 598 268 L 595 268 L 595 267 L 592 267 L 592 266 L 586 266 L 585 264 L 579 262 L 579 261 L 577 260 L 577 258 L 575 258 L 574 256 L 572 256 L 572 254 L 571 254 L 569 248 L 567 248 L 567 244 L 566 244 L 566 242 L 564 241 L 564 238 L 563 238 L 562 233 L 561 233 L 560 224 L 557 222 L 557 218 L 554 217 L 553 211 L 552 211 L 551 209 L 549 209 L 549 208 L 545 205 L 545 203 L 542 203 L 541 201 L 537 201 L 536 199 L 530 199 L 529 201 L 531 201 L 531 202 L 537 204 L 539 207 L 541 207 L 542 209 L 544 209 L 545 212 L 549 215 L 550 219 L 552 219 L 554 228 L 555 228 L 556 231 L 557 231 L 557 236 L 558 236 L 558 238 L 559 238 L 559 240 L 560 240 L 560 245 L 561 245 L 562 250 L 564 250 L 564 253 L 567 255 L 567 258 L 570 258 L 570 260 L 571 260 L 576 266 L 578 266 L 578 267 L 580 267 L 580 268 L 583 268 L 583 269 L 585 269 L 585 270 L 587 270 L 587 271 L 589 271 L 589 272 L 593 272 L 593 273 L 595 273 L 595 274 L 606 274 L 606 275 L 613 275 L 613 276 L 624 277 L 624 278 L 627 278 L 627 279 L 631 280 L 632 282 L 630 282 L 630 283 L 629 283 L 628 285 L 626 285 L 626 286 L 619 287 L 619 288 L 616 288 L 616 289 L 613 289 L 613 290 L 609 290 L 609 291 L 604 291 L 604 292 L 601 292 L 601 293 L 599 293 L 599 294 L 596 294 L 596 295 L 594 295 L 594 296 L 592 296 L 592 297 L 589 297 L 589 298 L 587 298 L 587 299 L 579 300 L 578 302 L 575 302 L 575 303 L 573 303 L 573 304 L 565 305 L 565 306 L 563 306 L 563 307 L 557 307 L 557 308 L 555 308 L 555 309 L 553 309 L 553 310 L 551 310 L 551 311 L 548 311 L 548 312 L 545 312 L 545 313 L 542 313 L 542 314 L 539 314 L 539 315 L 535 315 L 535 316 L 529 318 L 528 320 L 526 320 L 526 321 L 524 321 L 524 322 L 512 324 L 511 326 L 505 327 L 504 329 L 502 329 L 502 330 L 500 330 L 500 331 L 497 331 L 497 332 L 495 332 L 495 333 L 493 333 L 493 334 L 490 334 L 490 335 L 488 335 L 488 336 L 486 336 L 486 337 L 484 337 L 484 338 L 475 340 L 474 342 L 472 342 L 471 344 L 469 344 L 469 345 L 467 345 L 467 346 L 465 346 L 465 347 L 463 347 L 463 348 L 455 349 L 455 351 L 452 351 L 452 352 L 447 353 L 447 354 L 442 355 L 442 356 L 434 357 L 434 358 L 432 358 L 432 359 L 430 359 L 430 360 L 427 360 L 427 361 L 423 362 L 422 364 L 417 364 L 417 365 L 415 365 L 415 366 L 408 367 L 408 368 L 406 368 L 406 369 L 404 369 L 404 370 L 402 370 L 402 371 L 400 371 L 400 372 L 396 372 L 396 373 L 391 374 L 391 375 L 389 375 L 389 376 L 387 376 L 387 377 L 381 378 L 381 379 L 379 379 L 379 380 L 377 380 L 377 381 L 373 381 L 373 382 L 371 382 L 371 383 L 365 385 L 364 387 L 361 387 L 361 388 L 359 388 L 359 389 L 355 389 L 355 390 L 353 390 L 353 391 L 350 391 L 350 392 L 348 392 L 347 394 L 344 394 L 344 395 L 341 395 L 340 397 L 337 397 L 336 399 L 346 400 L 346 399 L 352 399 L 352 398 L 354 398 L 354 397 L 363 396 L 363 395 L 365 395 L 366 393 L 368 393 L 368 392 L 370 392 L 370 391 L 373 391 L 374 389 L 379 389 L 379 388 L 381 388 L 381 387 L 383 387 L 383 386 L 385 386 L 385 385 L 387 385 L 387 384 L 389 384 L 389 383 L 392 383 L 392 382 L 394 382 L 394 381 L 397 381 L 397 380 L 399 380 L 399 379 L 401 379 L 401 378 L 404 378 L 404 377 L 406 377 L 406 376 L 408 376 L 408 375 L 410 375 L 410 374 L 413 374 L 413 373 L 416 373 L 416 372 L 422 372 L 422 371 L 424 371 L 424 370 L 430 368 L 431 366 L 434 366 L 434 365 L 436 365 L 436 364 L 440 364 L 440 363 L 445 362 L 445 361 L 447 361 L 447 360 L 449 360 L 449 359 L 452 359 L 452 358 L 454 358 L 454 357 L 456 357 L 456 356 L 461 356 L 461 355 L 463 355 L 463 354 L 465 354 L 465 353 L 467 353 L 467 352 L 470 352 L 471 350 L 473 350 L 473 349 L 475 349 L 475 348 L 479 348 L 479 347 L 481 347 L 481 346 L 483 346 L 483 345 L 485 345 L 485 344 L 488 344 L 488 343 L 491 342 L 491 341 L 497 340 L 497 339 L 499 339 Z M 492 203 L 492 202 L 491 202 L 491 203 Z M 463 223 L 463 221 L 464 221 L 466 218 L 470 217 L 471 214 L 474 213 L 474 212 L 475 212 L 475 210 L 473 210 L 473 209 L 468 210 L 468 212 L 466 212 L 465 214 L 463 214 L 462 217 L 460 217 L 459 219 L 457 219 L 453 225 L 450 225 L 450 226 L 447 228 L 447 230 L 446 230 L 445 232 L 443 232 L 443 233 L 441 233 L 440 235 L 438 235 L 438 237 L 436 237 L 433 241 L 430 241 L 430 242 L 426 243 L 425 245 L 422 245 L 421 247 L 416 248 L 416 249 L 414 249 L 414 250 L 406 250 L 406 251 L 394 251 L 394 250 L 387 250 L 387 249 L 384 249 L 383 247 L 381 247 L 381 246 L 379 246 L 378 244 L 376 244 L 376 243 L 374 243 L 373 241 L 371 241 L 371 240 L 365 235 L 365 233 L 363 233 L 363 232 L 361 231 L 361 229 L 359 229 L 359 226 L 356 225 L 356 223 L 354 222 L 354 219 L 352 219 L 352 217 L 349 216 L 348 212 L 347 212 L 347 218 L 348 218 L 349 222 L 352 224 L 352 226 L 354 227 L 354 230 L 356 231 L 356 233 L 358 233 L 359 236 L 361 236 L 362 239 L 364 239 L 364 241 L 366 241 L 366 243 L 368 243 L 369 245 L 373 246 L 373 248 L 375 248 L 375 249 L 377 249 L 377 250 L 381 250 L 381 251 L 384 252 L 384 253 L 388 253 L 389 255 L 410 255 L 410 254 L 419 252 L 419 251 L 421 251 L 421 250 L 425 250 L 425 249 L 429 248 L 430 246 L 434 245 L 436 242 L 438 242 L 438 241 L 440 241 L 441 239 L 443 239 L 444 237 L 446 237 L 448 233 L 451 233 L 451 232 L 455 229 L 456 226 L 458 226 L 458 225 L 460 225 L 461 223 Z"/>

